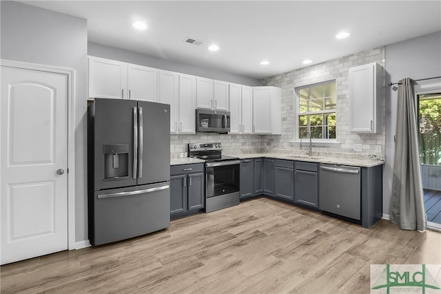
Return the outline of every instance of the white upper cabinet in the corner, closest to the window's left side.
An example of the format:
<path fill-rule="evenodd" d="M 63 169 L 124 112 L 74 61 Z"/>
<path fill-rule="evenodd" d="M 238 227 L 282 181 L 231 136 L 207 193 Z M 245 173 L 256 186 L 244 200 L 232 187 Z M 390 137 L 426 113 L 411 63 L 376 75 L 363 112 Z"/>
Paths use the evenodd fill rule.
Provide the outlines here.
<path fill-rule="evenodd" d="M 253 88 L 253 133 L 275 134 L 282 132 L 281 90 L 278 87 Z"/>

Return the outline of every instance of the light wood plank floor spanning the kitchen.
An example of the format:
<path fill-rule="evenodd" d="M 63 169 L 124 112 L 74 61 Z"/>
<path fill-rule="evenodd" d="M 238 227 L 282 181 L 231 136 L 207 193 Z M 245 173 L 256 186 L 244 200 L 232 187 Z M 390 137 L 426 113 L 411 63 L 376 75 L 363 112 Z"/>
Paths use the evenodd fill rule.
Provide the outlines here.
<path fill-rule="evenodd" d="M 370 264 L 441 264 L 441 233 L 258 198 L 125 242 L 1 266 L 1 293 L 369 293 Z"/>

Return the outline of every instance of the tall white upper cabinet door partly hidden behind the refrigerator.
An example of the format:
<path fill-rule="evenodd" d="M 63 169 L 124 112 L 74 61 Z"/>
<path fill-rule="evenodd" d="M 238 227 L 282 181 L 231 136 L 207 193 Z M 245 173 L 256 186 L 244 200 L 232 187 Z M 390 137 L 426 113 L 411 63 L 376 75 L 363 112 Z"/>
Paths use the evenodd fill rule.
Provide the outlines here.
<path fill-rule="evenodd" d="M 160 70 L 158 74 L 158 101 L 170 104 L 170 133 L 178 133 L 179 74 Z"/>

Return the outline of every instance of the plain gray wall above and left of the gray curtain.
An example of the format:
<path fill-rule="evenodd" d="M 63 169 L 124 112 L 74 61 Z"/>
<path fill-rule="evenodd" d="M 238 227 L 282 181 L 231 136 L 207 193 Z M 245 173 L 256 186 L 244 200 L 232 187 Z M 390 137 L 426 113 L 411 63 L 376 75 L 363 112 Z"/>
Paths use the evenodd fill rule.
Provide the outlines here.
<path fill-rule="evenodd" d="M 387 85 L 402 78 L 418 80 L 441 76 L 441 32 L 387 45 L 385 58 Z M 386 87 L 386 164 L 383 174 L 383 213 L 386 215 L 389 215 L 392 191 L 397 94 L 392 87 Z"/>

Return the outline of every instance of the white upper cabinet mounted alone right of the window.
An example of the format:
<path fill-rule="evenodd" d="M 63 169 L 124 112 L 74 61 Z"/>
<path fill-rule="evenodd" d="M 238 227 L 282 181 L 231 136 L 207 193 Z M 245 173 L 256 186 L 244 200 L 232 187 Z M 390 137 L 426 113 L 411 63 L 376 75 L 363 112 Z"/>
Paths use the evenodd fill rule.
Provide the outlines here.
<path fill-rule="evenodd" d="M 349 68 L 349 129 L 382 132 L 382 66 L 369 63 Z"/>

